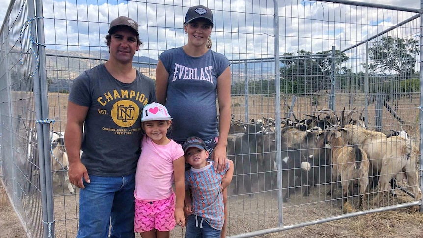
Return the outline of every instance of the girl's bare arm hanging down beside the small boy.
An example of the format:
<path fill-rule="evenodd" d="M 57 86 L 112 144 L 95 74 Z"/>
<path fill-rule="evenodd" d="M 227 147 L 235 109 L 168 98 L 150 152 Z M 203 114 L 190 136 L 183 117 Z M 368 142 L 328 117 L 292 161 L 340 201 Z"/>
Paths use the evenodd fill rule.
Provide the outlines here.
<path fill-rule="evenodd" d="M 176 224 L 181 224 L 181 227 L 185 226 L 184 217 L 184 198 L 185 198 L 185 181 L 184 181 L 184 156 L 173 161 L 173 176 L 175 178 L 175 195 L 176 195 L 176 206 L 175 206 L 175 221 Z"/>

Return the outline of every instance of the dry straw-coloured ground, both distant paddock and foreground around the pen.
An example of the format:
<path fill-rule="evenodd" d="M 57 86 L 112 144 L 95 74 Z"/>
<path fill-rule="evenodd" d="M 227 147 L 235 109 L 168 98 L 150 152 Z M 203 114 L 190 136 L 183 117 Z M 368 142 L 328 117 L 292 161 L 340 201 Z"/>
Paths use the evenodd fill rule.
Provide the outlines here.
<path fill-rule="evenodd" d="M 13 104 L 14 118 L 18 118 L 17 114 L 22 114 L 22 118 L 26 119 L 26 123 L 33 123 L 34 108 L 31 100 L 31 93 L 17 92 L 15 94 L 15 104 Z M 50 118 L 56 119 L 54 124 L 55 131 L 64 131 L 66 127 L 67 118 L 67 97 L 68 94 L 49 93 L 49 113 Z M 417 95 L 418 97 L 418 95 Z M 318 97 L 317 105 L 312 104 L 312 96 L 298 97 L 293 108 L 293 111 L 298 117 L 303 117 L 304 114 L 312 114 L 316 109 L 327 107 L 327 95 Z M 357 98 L 360 98 L 357 96 Z M 249 96 L 248 114 L 249 118 L 261 117 L 275 117 L 275 98 L 264 97 L 261 95 Z M 285 116 L 288 108 L 284 105 L 291 105 L 291 96 L 284 96 L 281 99 L 281 116 Z M 414 98 L 411 103 L 408 99 L 401 99 L 398 102 L 397 113 L 406 121 L 404 129 L 407 132 L 418 138 L 418 99 Z M 233 113 L 236 119 L 244 119 L 246 107 L 245 97 L 232 97 Z M 363 105 L 363 102 L 355 102 L 356 105 Z M 337 94 L 336 96 L 336 110 L 340 112 L 346 106 L 347 109 L 352 109 L 353 105 L 348 103 L 348 95 Z M 364 106 L 357 106 L 357 109 L 363 109 Z M 338 113 L 340 114 L 340 113 Z M 369 106 L 369 124 L 370 127 L 374 124 L 375 106 Z M 383 112 L 383 123 L 387 128 L 400 129 L 400 123 L 393 119 L 386 110 Z M 35 124 L 33 124 L 35 126 Z M 22 131 L 23 132 L 23 131 Z M 302 193 L 293 194 L 288 203 L 284 203 L 284 224 L 293 225 L 300 222 L 317 220 L 325 217 L 331 217 L 342 214 L 340 201 L 336 198 L 332 200 L 326 196 L 328 190 L 327 185 L 319 185 L 312 189 L 310 197 L 302 197 Z M 0 189 L 4 193 L 2 189 Z M 2 237 L 25 237 L 25 234 L 20 223 L 18 222 L 13 209 L 8 207 L 8 199 L 2 199 L 3 193 L 0 193 L 0 238 Z M 384 205 L 393 205 L 404 202 L 409 202 L 410 197 L 400 194 L 398 191 L 398 198 L 387 198 Z M 63 195 L 63 196 L 62 196 Z M 266 193 L 258 193 L 254 198 L 248 196 L 234 196 L 230 194 L 230 220 L 229 220 L 229 235 L 256 231 L 260 229 L 268 229 L 277 227 L 277 197 Z M 78 194 L 65 195 L 63 191 L 56 191 L 54 197 L 55 218 L 56 218 L 56 236 L 58 237 L 74 237 L 77 228 L 77 214 L 78 214 Z M 4 201 L 3 201 L 4 200 Z M 355 203 L 356 204 L 356 203 Z M 7 211 L 7 212 L 4 212 Z M 8 222 L 15 216 L 15 221 L 10 224 Z M 317 224 L 304 228 L 287 230 L 284 232 L 273 233 L 262 237 L 293 237 L 293 238 L 336 238 L 336 237 L 423 237 L 421 224 L 423 223 L 423 216 L 420 213 L 411 213 L 406 209 L 388 212 L 378 212 L 368 214 L 360 217 L 342 219 L 332 221 L 324 224 Z M 6 224 L 6 225 L 3 225 Z M 12 227 L 10 230 L 14 233 L 3 233 L 3 227 Z M 185 231 L 185 229 L 184 229 Z M 6 234 L 6 235 L 3 235 Z M 180 228 L 172 232 L 172 237 L 183 237 L 183 232 Z"/>

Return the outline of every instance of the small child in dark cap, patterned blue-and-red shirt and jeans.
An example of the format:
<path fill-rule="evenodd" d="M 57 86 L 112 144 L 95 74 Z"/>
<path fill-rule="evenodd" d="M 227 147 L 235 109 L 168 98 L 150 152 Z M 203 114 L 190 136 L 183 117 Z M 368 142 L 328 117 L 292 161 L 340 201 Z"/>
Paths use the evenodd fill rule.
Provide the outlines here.
<path fill-rule="evenodd" d="M 185 162 L 192 166 L 185 172 L 185 238 L 220 238 L 225 221 L 222 191 L 231 183 L 234 164 L 228 160 L 224 171 L 216 172 L 213 161 L 206 160 L 206 144 L 195 136 L 189 137 L 182 148 Z"/>

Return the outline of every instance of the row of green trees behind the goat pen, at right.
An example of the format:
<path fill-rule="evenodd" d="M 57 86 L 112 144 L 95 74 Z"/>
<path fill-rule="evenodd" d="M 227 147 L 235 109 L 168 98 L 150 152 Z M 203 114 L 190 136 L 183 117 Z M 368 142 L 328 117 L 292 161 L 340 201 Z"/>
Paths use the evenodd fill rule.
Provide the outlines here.
<path fill-rule="evenodd" d="M 364 92 L 365 73 L 352 72 L 341 66 L 349 60 L 345 53 L 335 51 L 335 69 L 332 71 L 331 50 L 313 52 L 300 50 L 296 55 L 284 53 L 281 57 L 280 92 L 284 94 L 308 94 L 330 90 L 332 73 L 335 87 L 345 92 Z M 369 93 L 411 93 L 419 91 L 419 72 L 415 72 L 416 57 L 419 55 L 418 41 L 415 39 L 382 37 L 369 47 L 368 91 Z M 390 72 L 388 74 L 387 72 Z M 393 73 L 394 72 L 394 73 Z M 272 95 L 275 93 L 275 80 L 262 79 L 248 82 L 249 94 Z M 245 83 L 232 85 L 233 95 L 245 94 Z"/>

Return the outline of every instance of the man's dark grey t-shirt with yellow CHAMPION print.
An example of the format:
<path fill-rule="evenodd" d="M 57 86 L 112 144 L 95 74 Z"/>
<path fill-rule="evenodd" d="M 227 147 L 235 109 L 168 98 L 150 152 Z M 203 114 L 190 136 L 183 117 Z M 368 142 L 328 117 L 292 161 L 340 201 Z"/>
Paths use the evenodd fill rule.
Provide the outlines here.
<path fill-rule="evenodd" d="M 122 83 L 101 64 L 74 79 L 69 101 L 89 107 L 81 148 L 88 174 L 134 173 L 141 153 L 142 108 L 156 101 L 153 80 L 137 71 L 132 83 Z"/>

